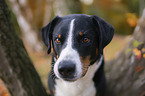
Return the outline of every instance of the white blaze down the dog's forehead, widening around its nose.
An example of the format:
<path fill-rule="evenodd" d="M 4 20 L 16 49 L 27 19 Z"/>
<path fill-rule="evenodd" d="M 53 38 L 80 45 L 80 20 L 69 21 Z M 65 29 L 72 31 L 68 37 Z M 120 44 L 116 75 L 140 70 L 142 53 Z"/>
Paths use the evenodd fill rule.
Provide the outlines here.
<path fill-rule="evenodd" d="M 79 78 L 82 74 L 82 66 L 81 66 L 81 61 L 79 59 L 79 54 L 76 50 L 72 48 L 73 41 L 74 41 L 73 40 L 74 22 L 75 19 L 71 20 L 70 22 L 66 47 L 61 51 L 58 60 L 54 64 L 54 73 L 57 77 L 59 77 L 59 72 L 58 72 L 59 63 L 63 60 L 71 60 L 74 62 L 74 64 L 76 64 L 75 76 L 77 78 Z"/>

